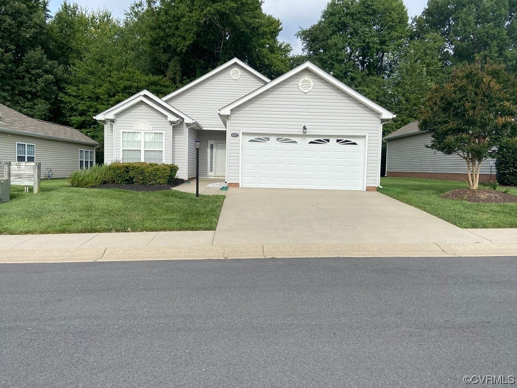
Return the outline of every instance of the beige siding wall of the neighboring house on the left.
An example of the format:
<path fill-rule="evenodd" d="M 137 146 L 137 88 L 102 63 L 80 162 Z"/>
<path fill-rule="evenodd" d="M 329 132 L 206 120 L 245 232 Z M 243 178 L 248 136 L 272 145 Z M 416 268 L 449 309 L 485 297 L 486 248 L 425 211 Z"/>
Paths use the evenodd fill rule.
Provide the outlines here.
<path fill-rule="evenodd" d="M 53 178 L 67 178 L 79 170 L 79 150 L 95 151 L 93 145 L 0 132 L 0 162 L 16 161 L 16 143 L 35 145 L 35 161 L 41 162 L 41 178 L 52 169 Z M 0 167 L 3 177 L 4 167 Z"/>

